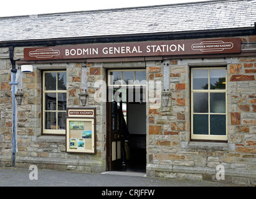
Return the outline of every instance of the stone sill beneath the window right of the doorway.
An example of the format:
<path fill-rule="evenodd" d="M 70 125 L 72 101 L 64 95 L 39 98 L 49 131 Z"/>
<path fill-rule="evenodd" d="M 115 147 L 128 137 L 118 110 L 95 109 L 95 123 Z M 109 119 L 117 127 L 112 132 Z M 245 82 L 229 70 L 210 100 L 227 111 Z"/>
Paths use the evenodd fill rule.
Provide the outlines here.
<path fill-rule="evenodd" d="M 234 150 L 234 144 L 223 142 L 183 142 L 183 149 L 203 149 L 203 150 Z"/>

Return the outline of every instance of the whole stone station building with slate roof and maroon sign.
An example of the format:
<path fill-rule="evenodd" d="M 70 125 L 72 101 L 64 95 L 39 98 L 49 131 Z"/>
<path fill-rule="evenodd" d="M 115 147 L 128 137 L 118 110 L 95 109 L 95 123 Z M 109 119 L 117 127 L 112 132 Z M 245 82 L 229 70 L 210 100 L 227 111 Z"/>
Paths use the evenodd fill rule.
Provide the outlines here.
<path fill-rule="evenodd" d="M 255 0 L 1 17 L 0 165 L 255 185 L 255 27 Z"/>

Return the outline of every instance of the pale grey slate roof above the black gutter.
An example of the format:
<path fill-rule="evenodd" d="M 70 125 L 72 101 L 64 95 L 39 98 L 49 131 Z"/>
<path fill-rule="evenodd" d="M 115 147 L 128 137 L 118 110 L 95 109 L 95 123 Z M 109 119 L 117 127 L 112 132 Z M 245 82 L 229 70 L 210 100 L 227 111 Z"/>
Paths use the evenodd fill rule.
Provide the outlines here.
<path fill-rule="evenodd" d="M 256 0 L 0 17 L 0 42 L 253 28 Z"/>

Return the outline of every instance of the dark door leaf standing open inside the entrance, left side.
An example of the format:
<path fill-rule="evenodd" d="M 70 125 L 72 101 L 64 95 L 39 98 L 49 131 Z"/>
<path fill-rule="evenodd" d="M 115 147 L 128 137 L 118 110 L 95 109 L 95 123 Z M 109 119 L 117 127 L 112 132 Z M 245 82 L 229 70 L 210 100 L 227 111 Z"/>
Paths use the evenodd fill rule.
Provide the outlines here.
<path fill-rule="evenodd" d="M 125 167 L 125 150 L 122 139 L 123 124 L 123 103 L 114 100 L 115 96 L 121 98 L 121 92 L 118 89 L 108 90 L 111 95 L 111 101 L 107 103 L 107 170 L 121 170 Z"/>

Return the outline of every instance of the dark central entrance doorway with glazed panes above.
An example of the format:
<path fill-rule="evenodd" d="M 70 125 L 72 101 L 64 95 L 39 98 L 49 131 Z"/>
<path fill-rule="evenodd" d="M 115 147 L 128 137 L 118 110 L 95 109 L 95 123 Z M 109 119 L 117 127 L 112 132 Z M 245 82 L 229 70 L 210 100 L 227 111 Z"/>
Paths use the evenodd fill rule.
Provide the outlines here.
<path fill-rule="evenodd" d="M 128 72 L 135 74 L 136 70 Z M 109 74 L 114 80 L 115 73 Z M 137 85 L 110 83 L 107 93 L 107 170 L 146 172 L 146 86 L 142 81 Z"/>

